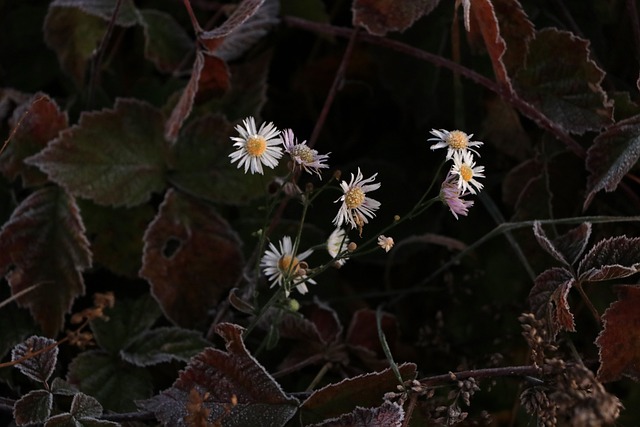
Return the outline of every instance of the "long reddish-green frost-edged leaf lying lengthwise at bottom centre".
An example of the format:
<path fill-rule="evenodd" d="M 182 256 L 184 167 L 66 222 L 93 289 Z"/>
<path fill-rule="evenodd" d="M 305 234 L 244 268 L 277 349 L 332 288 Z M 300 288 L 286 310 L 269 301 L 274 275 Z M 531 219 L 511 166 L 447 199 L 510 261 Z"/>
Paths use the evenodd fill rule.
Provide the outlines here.
<path fill-rule="evenodd" d="M 415 364 L 404 363 L 398 369 L 403 380 L 415 379 Z M 390 368 L 348 378 L 314 391 L 302 403 L 300 418 L 303 424 L 317 423 L 351 412 L 357 406 L 373 407 L 380 404 L 385 393 L 397 391 L 397 386 L 398 380 Z"/>

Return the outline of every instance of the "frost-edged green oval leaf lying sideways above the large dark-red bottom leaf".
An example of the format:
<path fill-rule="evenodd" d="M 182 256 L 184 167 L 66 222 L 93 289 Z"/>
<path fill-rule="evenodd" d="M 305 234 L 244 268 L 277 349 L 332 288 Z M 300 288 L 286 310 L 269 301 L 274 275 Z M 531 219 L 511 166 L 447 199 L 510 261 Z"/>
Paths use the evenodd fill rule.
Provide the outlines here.
<path fill-rule="evenodd" d="M 202 334 L 176 327 L 145 331 L 120 352 L 120 356 L 136 366 L 179 360 L 188 362 L 193 356 L 210 346 Z"/>

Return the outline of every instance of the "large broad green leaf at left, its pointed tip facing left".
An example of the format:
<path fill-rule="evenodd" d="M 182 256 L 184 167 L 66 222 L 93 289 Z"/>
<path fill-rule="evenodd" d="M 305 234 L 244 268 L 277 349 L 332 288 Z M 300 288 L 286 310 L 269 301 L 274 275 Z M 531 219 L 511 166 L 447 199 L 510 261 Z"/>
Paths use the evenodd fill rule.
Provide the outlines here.
<path fill-rule="evenodd" d="M 26 162 L 74 195 L 103 205 L 138 205 L 165 188 L 163 122 L 151 105 L 119 99 L 113 109 L 83 113 L 78 125 Z"/>

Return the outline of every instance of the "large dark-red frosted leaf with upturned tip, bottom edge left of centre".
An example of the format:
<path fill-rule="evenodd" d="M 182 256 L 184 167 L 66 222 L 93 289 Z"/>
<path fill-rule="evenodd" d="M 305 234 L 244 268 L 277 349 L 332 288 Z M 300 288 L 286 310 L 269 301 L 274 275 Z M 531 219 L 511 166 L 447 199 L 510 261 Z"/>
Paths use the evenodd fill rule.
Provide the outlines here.
<path fill-rule="evenodd" d="M 230 426 L 283 426 L 297 411 L 298 400 L 280 386 L 249 354 L 242 342 L 242 328 L 222 323 L 216 331 L 226 342 L 226 352 L 208 348 L 180 372 L 171 388 L 140 403 L 169 426 L 182 425 L 194 413 L 196 390 L 202 398 L 200 413 L 209 422 Z M 189 412 L 191 408 L 191 412 Z"/>

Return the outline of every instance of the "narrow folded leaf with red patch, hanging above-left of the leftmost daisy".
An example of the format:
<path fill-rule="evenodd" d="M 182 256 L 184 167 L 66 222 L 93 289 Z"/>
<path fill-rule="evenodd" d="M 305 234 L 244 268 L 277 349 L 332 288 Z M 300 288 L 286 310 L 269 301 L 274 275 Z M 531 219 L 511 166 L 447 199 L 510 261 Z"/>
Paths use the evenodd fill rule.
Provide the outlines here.
<path fill-rule="evenodd" d="M 191 114 L 196 95 L 202 91 L 202 97 L 205 97 L 207 92 L 209 94 L 219 93 L 227 90 L 228 87 L 229 70 L 226 63 L 222 59 L 207 55 L 202 51 L 196 52 L 189 83 L 184 88 L 165 124 L 165 138 L 171 142 L 176 141 L 182 123 Z"/>

